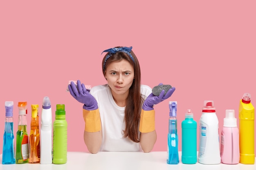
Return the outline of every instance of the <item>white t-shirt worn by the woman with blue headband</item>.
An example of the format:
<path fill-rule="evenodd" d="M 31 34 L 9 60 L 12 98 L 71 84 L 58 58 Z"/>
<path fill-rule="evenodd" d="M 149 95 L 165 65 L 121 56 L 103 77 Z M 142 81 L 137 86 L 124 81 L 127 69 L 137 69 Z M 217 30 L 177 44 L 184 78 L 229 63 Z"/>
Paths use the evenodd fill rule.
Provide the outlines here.
<path fill-rule="evenodd" d="M 98 102 L 101 117 L 102 143 L 100 151 L 140 151 L 139 143 L 124 138 L 125 107 L 117 106 L 108 84 L 94 86 L 90 93 Z M 141 94 L 144 99 L 150 93 L 152 93 L 152 89 L 149 86 L 141 85 Z"/>

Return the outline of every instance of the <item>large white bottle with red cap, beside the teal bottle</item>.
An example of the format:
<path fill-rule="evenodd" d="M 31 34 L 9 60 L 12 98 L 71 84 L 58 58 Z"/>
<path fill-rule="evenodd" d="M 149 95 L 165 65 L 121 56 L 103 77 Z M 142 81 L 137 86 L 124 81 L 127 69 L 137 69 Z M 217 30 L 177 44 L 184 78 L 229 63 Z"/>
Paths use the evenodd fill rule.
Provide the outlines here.
<path fill-rule="evenodd" d="M 205 100 L 199 120 L 198 162 L 219 164 L 220 161 L 219 121 L 213 101 Z"/>

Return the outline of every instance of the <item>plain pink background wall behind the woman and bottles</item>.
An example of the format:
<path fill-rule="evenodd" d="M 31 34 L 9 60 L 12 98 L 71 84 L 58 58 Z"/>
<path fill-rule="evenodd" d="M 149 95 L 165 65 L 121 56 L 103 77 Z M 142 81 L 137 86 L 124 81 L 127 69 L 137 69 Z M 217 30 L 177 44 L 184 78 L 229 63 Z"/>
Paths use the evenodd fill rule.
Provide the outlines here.
<path fill-rule="evenodd" d="M 166 151 L 168 102 L 177 101 L 179 150 L 181 122 L 192 109 L 198 122 L 204 100 L 213 100 L 223 126 L 226 109 L 235 109 L 245 92 L 256 106 L 256 1 L 0 1 L 0 153 L 4 102 L 14 101 L 14 133 L 18 102 L 43 97 L 65 104 L 68 151 L 87 151 L 83 142 L 82 104 L 66 91 L 69 80 L 106 84 L 101 52 L 133 46 L 141 65 L 142 84 L 176 87 L 157 106 L 157 142 Z M 239 122 L 239 121 L 238 121 Z"/>

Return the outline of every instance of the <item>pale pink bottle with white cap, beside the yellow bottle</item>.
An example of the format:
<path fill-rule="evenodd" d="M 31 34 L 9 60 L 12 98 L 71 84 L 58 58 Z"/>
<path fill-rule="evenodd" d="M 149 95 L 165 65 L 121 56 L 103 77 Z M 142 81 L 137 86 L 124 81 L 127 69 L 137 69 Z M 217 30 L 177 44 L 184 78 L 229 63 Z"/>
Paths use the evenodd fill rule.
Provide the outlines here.
<path fill-rule="evenodd" d="M 221 162 L 225 164 L 239 163 L 239 132 L 235 110 L 226 110 L 226 117 L 221 131 L 220 157 Z"/>

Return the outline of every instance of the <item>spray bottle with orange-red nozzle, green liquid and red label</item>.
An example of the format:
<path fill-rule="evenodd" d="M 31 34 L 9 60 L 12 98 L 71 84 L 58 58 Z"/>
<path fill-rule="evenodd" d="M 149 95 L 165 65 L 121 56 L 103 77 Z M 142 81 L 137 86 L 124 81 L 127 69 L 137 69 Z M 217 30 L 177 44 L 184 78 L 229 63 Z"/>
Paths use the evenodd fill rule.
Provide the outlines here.
<path fill-rule="evenodd" d="M 27 102 L 18 102 L 18 131 L 16 136 L 16 164 L 29 162 L 29 137 L 27 134 Z"/>

